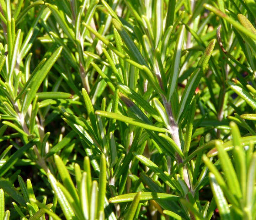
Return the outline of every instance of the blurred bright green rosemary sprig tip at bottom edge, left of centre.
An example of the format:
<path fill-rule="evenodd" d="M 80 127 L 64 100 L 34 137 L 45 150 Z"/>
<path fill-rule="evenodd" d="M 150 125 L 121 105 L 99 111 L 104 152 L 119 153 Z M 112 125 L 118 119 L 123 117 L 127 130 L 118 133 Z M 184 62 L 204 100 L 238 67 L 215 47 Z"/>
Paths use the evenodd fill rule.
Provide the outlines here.
<path fill-rule="evenodd" d="M 52 174 L 48 174 L 48 179 L 66 219 L 105 219 L 105 215 L 107 215 L 107 219 L 116 219 L 111 210 L 106 209 L 104 213 L 104 205 L 108 205 L 108 202 L 105 197 L 107 183 L 106 159 L 103 154 L 101 156 L 98 182 L 92 181 L 88 157 L 84 159 L 84 172 L 81 173 L 81 168 L 78 164 L 74 165 L 77 189 L 63 161 L 57 155 L 54 158 L 63 185 Z M 53 219 L 60 219 L 48 207 L 44 207 L 41 203 L 37 204 Z"/>

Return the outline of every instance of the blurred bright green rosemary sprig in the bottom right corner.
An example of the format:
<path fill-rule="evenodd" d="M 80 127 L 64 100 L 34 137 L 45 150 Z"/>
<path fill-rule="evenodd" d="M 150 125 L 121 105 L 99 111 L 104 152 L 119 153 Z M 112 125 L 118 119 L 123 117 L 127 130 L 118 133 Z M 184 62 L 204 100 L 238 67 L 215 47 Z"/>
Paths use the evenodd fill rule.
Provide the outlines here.
<path fill-rule="evenodd" d="M 210 184 L 220 217 L 222 219 L 255 219 L 256 155 L 253 150 L 254 145 L 249 142 L 246 149 L 237 125 L 231 122 L 230 127 L 234 146 L 233 161 L 225 152 L 224 144 L 217 144 L 219 163 L 226 182 L 206 155 L 203 160 L 210 170 Z"/>

